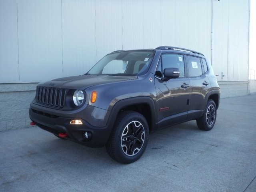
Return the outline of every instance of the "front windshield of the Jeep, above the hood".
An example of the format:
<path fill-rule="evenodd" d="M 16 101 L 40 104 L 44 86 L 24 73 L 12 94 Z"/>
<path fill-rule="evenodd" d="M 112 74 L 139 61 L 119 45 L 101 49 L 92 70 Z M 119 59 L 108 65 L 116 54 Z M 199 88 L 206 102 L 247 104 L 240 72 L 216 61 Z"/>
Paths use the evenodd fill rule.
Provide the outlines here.
<path fill-rule="evenodd" d="M 122 51 L 106 55 L 87 74 L 144 74 L 154 57 L 154 51 Z"/>

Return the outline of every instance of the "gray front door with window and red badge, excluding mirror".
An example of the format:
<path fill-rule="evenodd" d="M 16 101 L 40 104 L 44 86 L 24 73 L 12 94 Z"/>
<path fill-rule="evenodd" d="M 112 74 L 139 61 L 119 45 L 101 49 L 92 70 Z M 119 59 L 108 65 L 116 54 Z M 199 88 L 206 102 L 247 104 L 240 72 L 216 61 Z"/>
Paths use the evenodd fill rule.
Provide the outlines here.
<path fill-rule="evenodd" d="M 179 68 L 180 77 L 161 80 L 165 68 Z M 185 77 L 184 58 L 179 54 L 162 54 L 155 74 L 155 88 L 160 127 L 185 121 L 188 116 L 190 80 Z"/>

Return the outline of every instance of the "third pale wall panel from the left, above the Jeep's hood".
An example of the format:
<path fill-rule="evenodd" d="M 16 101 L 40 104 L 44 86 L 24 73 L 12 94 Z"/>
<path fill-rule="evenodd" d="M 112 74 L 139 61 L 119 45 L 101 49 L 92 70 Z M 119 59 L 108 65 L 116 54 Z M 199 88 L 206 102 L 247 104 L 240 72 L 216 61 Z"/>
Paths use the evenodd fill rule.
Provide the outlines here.
<path fill-rule="evenodd" d="M 62 0 L 63 76 L 85 74 L 96 63 L 95 1 Z"/>

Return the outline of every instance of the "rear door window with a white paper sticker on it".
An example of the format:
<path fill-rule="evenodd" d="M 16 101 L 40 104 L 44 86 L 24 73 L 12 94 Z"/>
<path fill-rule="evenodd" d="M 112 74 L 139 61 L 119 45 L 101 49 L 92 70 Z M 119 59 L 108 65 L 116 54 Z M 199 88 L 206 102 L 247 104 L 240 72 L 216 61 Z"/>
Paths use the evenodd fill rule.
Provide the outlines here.
<path fill-rule="evenodd" d="M 188 65 L 188 76 L 197 77 L 203 74 L 200 58 L 186 55 L 186 62 Z"/>

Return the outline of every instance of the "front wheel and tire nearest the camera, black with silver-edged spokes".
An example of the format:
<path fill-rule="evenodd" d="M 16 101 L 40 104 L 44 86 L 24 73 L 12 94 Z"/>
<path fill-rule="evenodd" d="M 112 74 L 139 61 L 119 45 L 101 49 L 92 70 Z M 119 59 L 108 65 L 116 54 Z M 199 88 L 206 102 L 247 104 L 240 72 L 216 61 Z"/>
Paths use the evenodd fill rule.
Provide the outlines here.
<path fill-rule="evenodd" d="M 117 162 L 135 162 L 146 150 L 148 135 L 148 123 L 142 114 L 123 111 L 118 115 L 106 150 Z"/>

